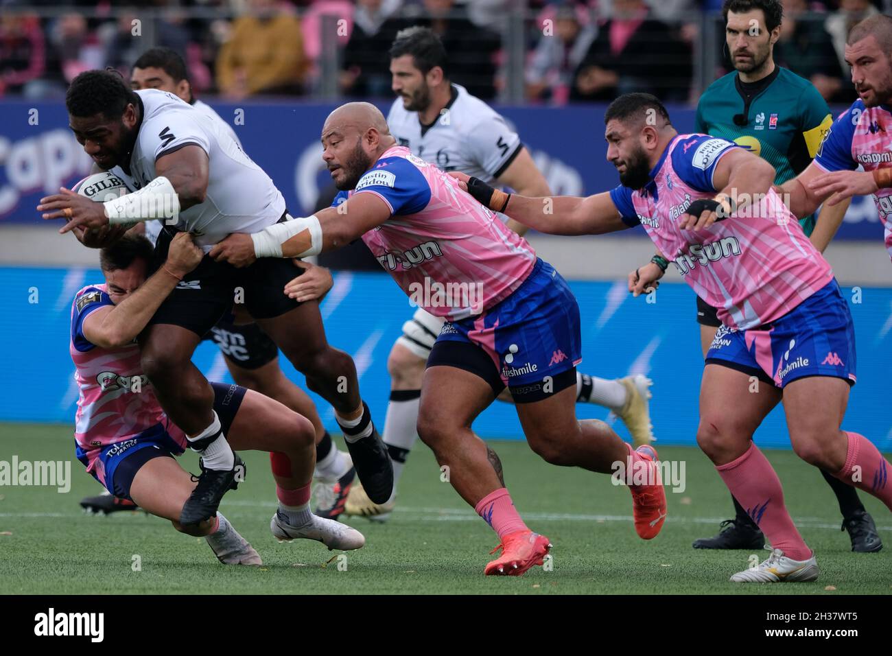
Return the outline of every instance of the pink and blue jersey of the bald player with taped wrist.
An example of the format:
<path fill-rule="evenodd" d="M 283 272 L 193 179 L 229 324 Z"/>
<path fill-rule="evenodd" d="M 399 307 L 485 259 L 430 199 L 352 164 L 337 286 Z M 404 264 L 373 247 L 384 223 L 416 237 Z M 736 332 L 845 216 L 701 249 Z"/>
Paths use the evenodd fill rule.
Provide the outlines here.
<path fill-rule="evenodd" d="M 387 203 L 392 217 L 362 240 L 409 298 L 435 316 L 455 321 L 480 314 L 533 270 L 536 253 L 523 237 L 408 148 L 385 151 L 334 204 L 354 194 Z"/>

